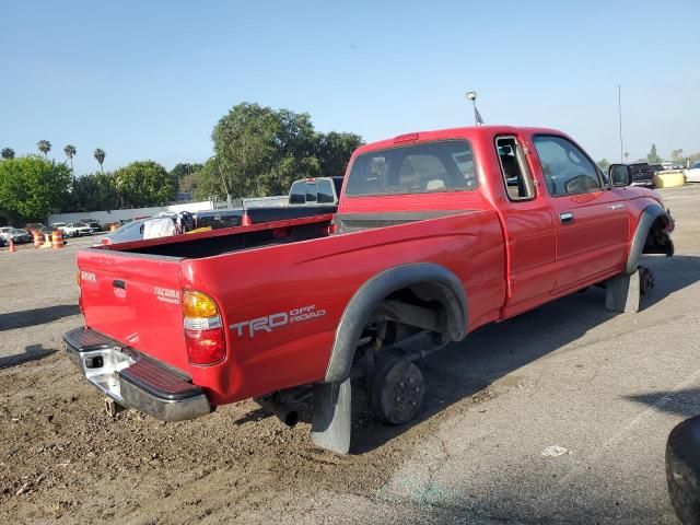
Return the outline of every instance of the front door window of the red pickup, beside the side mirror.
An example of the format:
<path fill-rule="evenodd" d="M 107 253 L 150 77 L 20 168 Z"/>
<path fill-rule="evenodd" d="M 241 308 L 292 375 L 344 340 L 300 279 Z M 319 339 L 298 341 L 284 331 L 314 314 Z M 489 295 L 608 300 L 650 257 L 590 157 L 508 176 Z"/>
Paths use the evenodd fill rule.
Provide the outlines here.
<path fill-rule="evenodd" d="M 603 188 L 595 164 L 569 140 L 540 135 L 533 142 L 542 166 L 547 190 L 552 197 L 587 194 Z"/>

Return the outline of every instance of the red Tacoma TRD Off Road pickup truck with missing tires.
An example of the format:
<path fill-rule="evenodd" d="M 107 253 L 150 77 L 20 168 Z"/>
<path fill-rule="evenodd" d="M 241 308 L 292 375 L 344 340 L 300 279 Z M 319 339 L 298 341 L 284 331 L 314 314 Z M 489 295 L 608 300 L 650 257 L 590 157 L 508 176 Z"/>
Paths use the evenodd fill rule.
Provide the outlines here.
<path fill-rule="evenodd" d="M 368 144 L 335 214 L 79 252 L 66 349 L 109 405 L 165 421 L 254 397 L 293 423 L 308 395 L 314 443 L 346 453 L 351 378 L 401 424 L 425 392 L 415 361 L 481 325 L 594 284 L 637 311 L 640 256 L 673 255 L 674 221 L 630 182 L 552 129 Z"/>

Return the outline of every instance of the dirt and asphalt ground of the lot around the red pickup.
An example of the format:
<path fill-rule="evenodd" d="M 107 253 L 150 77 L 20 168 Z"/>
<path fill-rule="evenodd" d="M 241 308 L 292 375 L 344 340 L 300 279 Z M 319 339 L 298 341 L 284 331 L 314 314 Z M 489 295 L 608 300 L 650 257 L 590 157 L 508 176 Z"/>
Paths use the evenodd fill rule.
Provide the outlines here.
<path fill-rule="evenodd" d="M 358 407 L 349 456 L 249 401 L 109 419 L 60 345 L 81 323 L 74 258 L 92 238 L 3 248 L 0 522 L 678 523 L 664 445 L 700 412 L 700 185 L 662 192 L 677 256 L 644 261 L 642 312 L 611 314 L 592 289 L 479 329 L 422 363 L 415 424 Z"/>

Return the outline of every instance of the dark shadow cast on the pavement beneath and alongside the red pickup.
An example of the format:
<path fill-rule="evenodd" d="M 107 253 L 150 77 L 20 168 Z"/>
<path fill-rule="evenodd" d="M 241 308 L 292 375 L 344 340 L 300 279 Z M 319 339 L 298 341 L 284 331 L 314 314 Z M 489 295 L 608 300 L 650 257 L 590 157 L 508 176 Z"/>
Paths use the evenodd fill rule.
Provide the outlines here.
<path fill-rule="evenodd" d="M 656 276 L 655 289 L 642 299 L 643 311 L 700 280 L 700 257 L 646 257 L 643 265 L 652 268 Z M 358 387 L 353 384 L 351 453 L 364 454 L 447 409 L 474 409 L 503 389 L 520 386 L 516 376 L 504 377 L 560 350 L 617 315 L 621 314 L 605 310 L 605 290 L 591 288 L 513 319 L 479 328 L 464 341 L 418 363 L 427 385 L 423 410 L 413 421 L 401 427 L 376 421 L 369 409 L 362 384 Z M 622 315 L 631 319 L 635 314 Z M 644 401 L 642 398 L 639 400 Z M 453 407 L 457 404 L 459 407 Z"/>

